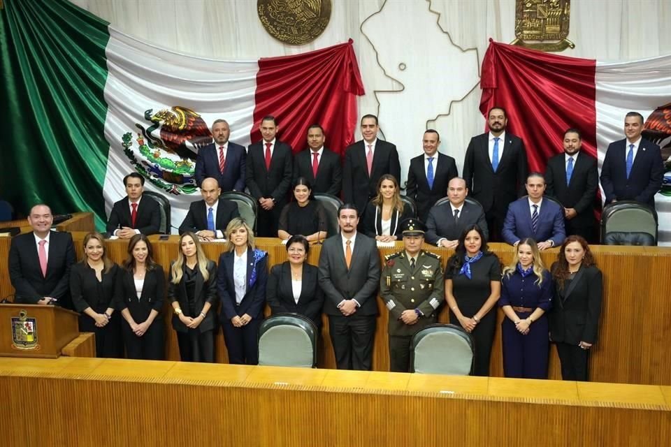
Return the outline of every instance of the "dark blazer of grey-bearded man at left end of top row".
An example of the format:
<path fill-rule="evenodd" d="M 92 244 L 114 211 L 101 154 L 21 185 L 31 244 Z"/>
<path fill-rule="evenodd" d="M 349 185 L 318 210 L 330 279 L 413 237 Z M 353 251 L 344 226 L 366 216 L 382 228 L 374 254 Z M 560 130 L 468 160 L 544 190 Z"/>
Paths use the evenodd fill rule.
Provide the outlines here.
<path fill-rule="evenodd" d="M 213 142 L 210 143 L 200 149 L 196 156 L 194 172 L 196 184 L 201 186 L 204 179 L 212 177 L 217 179 L 222 191 L 232 191 L 233 189 L 245 191 L 245 159 L 247 159 L 245 147 L 229 141 L 228 149 L 226 149 L 226 164 L 222 174 L 219 172 L 219 146 Z"/>

